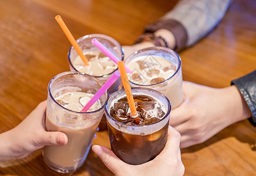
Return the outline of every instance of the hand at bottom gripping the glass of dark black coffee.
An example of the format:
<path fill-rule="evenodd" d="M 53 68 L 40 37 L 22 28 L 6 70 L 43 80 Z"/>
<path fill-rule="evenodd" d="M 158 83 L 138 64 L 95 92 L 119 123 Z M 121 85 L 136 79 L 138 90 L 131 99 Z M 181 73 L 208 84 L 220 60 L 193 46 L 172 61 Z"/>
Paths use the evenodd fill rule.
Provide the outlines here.
<path fill-rule="evenodd" d="M 112 150 L 93 145 L 92 150 L 114 175 L 183 175 L 184 165 L 180 154 L 180 134 L 169 126 L 167 143 L 154 160 L 140 165 L 130 165 L 120 160 Z"/>

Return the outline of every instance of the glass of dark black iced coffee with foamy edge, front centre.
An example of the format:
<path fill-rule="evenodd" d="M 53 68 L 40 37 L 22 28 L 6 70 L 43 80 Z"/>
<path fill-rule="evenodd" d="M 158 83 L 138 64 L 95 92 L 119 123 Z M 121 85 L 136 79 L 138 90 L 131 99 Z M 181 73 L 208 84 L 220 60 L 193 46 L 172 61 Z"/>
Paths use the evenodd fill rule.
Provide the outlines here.
<path fill-rule="evenodd" d="M 133 87 L 132 94 L 140 121 L 130 114 L 124 90 L 106 101 L 105 113 L 111 149 L 128 164 L 143 164 L 156 157 L 167 140 L 170 101 L 153 89 Z"/>

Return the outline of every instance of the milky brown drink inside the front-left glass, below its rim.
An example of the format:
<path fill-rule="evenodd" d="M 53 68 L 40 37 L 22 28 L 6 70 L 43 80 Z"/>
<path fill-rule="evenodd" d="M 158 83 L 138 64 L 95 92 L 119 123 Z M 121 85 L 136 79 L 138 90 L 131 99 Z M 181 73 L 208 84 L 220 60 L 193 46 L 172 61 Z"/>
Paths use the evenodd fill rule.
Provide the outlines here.
<path fill-rule="evenodd" d="M 93 97 L 93 94 L 83 92 L 68 92 L 56 97 L 55 100 L 63 107 L 73 111 L 80 111 L 83 106 Z M 97 101 L 89 111 L 97 110 L 101 107 Z M 86 117 L 56 118 L 56 111 L 50 108 L 46 111 L 46 130 L 61 131 L 68 136 L 68 144 L 65 146 L 46 146 L 43 150 L 45 160 L 63 168 L 77 168 L 85 161 L 90 150 L 93 136 L 99 125 L 98 120 L 91 120 L 88 123 Z"/>

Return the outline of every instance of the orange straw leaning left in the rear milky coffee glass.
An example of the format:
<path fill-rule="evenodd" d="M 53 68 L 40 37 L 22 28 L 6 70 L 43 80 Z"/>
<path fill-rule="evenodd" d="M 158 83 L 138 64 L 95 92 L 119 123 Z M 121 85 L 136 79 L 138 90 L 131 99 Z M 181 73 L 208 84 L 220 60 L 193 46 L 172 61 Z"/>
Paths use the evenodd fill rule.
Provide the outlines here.
<path fill-rule="evenodd" d="M 76 42 L 76 40 L 73 37 L 73 35 L 70 33 L 68 27 L 66 26 L 66 24 L 63 21 L 63 19 L 61 18 L 61 16 L 60 15 L 56 15 L 55 19 L 59 23 L 59 26 L 62 29 L 62 31 L 65 33 L 66 37 L 69 39 L 69 42 L 72 44 L 73 48 L 75 48 L 76 52 L 78 53 L 78 55 L 83 60 L 83 63 L 85 63 L 85 65 L 89 65 L 88 59 L 83 54 L 82 49 L 80 49 L 78 43 Z"/>

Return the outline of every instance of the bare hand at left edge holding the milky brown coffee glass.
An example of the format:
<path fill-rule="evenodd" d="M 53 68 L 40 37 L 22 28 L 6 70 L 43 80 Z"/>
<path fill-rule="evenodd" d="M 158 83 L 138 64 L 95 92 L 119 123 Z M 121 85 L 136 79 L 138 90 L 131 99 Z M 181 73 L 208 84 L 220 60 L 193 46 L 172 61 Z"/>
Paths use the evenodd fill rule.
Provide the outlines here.
<path fill-rule="evenodd" d="M 45 145 L 65 145 L 68 137 L 45 130 L 46 101 L 40 103 L 18 126 L 0 134 L 0 161 L 26 157 Z"/>

